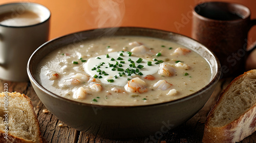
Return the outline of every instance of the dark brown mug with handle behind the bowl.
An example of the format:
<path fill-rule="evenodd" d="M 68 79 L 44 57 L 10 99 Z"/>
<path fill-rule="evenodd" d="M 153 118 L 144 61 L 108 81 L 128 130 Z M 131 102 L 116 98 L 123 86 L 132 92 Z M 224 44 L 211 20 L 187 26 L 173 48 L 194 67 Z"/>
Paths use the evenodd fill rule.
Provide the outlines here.
<path fill-rule="evenodd" d="M 206 2 L 194 8 L 192 38 L 217 55 L 223 77 L 234 77 L 245 71 L 246 59 L 256 47 L 247 50 L 247 35 L 255 24 L 243 5 Z"/>

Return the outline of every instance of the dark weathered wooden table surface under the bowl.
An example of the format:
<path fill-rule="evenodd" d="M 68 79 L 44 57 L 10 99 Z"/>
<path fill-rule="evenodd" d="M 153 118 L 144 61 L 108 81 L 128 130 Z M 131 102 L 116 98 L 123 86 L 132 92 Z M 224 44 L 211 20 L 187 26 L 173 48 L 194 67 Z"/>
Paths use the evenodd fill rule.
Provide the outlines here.
<path fill-rule="evenodd" d="M 158 140 L 148 139 L 148 141 L 145 141 L 148 137 L 129 140 L 111 140 L 100 138 L 98 136 L 88 134 L 87 132 L 77 131 L 59 121 L 53 114 L 42 112 L 46 107 L 36 96 L 30 82 L 10 82 L 0 80 L 0 91 L 4 91 L 4 84 L 8 83 L 9 92 L 17 91 L 24 93 L 31 98 L 40 124 L 41 135 L 45 142 L 202 142 L 201 140 L 203 137 L 206 116 L 211 107 L 216 103 L 220 92 L 227 86 L 227 84 L 230 83 L 231 80 L 232 78 L 221 79 L 205 106 L 189 121 L 174 130 L 170 130 Z M 59 127 L 59 123 L 62 123 L 63 127 Z M 256 132 L 241 142 L 256 142 Z"/>

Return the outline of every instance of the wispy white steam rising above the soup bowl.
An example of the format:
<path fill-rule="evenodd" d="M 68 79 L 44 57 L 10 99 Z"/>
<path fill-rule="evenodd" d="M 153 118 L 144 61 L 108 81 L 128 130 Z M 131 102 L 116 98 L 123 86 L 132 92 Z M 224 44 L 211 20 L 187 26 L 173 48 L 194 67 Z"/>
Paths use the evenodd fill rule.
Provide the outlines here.
<path fill-rule="evenodd" d="M 88 0 L 93 8 L 91 14 L 95 17 L 93 25 L 97 28 L 120 27 L 125 13 L 124 0 Z M 110 29 L 105 33 L 113 34 L 117 28 Z"/>

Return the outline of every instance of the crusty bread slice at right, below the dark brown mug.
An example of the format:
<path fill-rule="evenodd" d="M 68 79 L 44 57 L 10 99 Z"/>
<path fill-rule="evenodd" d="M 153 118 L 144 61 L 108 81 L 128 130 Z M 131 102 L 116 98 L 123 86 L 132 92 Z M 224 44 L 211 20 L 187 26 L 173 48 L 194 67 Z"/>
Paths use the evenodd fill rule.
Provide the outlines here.
<path fill-rule="evenodd" d="M 256 130 L 256 69 L 235 78 L 207 116 L 202 142 L 239 142 Z"/>

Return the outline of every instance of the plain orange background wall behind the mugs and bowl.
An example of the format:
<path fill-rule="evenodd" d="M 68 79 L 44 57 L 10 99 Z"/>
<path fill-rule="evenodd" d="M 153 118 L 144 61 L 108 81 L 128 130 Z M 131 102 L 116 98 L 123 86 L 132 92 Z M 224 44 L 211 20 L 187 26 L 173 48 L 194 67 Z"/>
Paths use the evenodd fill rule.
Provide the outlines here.
<path fill-rule="evenodd" d="M 191 35 L 191 12 L 202 0 L 0 0 L 34 2 L 48 7 L 51 15 L 50 39 L 69 33 L 101 27 L 136 26 Z M 226 0 L 243 4 L 256 18 L 256 1 Z M 181 27 L 175 26 L 180 24 Z M 251 39 L 250 39 L 251 38 Z M 256 26 L 249 43 L 256 40 Z"/>

